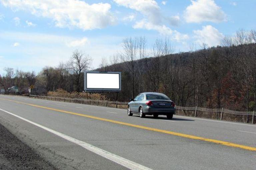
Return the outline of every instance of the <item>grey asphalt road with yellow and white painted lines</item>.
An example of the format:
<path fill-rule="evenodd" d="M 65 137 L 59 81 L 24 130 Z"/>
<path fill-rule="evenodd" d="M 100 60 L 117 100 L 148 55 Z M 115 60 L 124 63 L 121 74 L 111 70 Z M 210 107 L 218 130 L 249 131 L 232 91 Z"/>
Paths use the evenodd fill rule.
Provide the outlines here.
<path fill-rule="evenodd" d="M 0 123 L 59 169 L 256 169 L 255 125 L 3 95 L 0 109 Z"/>

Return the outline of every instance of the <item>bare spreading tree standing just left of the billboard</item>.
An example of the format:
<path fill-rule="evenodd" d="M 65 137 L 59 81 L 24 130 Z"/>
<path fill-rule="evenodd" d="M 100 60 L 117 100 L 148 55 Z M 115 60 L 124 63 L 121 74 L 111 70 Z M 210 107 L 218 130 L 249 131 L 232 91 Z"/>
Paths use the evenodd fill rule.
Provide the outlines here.
<path fill-rule="evenodd" d="M 81 90 L 81 75 L 83 71 L 88 70 L 91 67 L 92 58 L 85 54 L 83 51 L 74 50 L 72 57 L 69 60 L 70 72 L 75 77 L 76 91 Z"/>

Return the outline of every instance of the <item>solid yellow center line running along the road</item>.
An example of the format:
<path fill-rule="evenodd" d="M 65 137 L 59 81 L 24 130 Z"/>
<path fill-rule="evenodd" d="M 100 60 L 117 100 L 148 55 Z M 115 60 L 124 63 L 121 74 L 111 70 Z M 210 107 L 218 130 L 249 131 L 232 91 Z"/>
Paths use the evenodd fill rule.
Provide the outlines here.
<path fill-rule="evenodd" d="M 256 147 L 250 147 L 250 146 L 235 144 L 235 143 L 231 143 L 231 142 L 221 141 L 221 140 L 208 139 L 208 138 L 204 138 L 204 137 L 193 136 L 193 135 L 183 134 L 183 133 L 177 133 L 177 132 L 162 130 L 162 129 L 157 129 L 157 128 L 150 128 L 150 127 L 145 127 L 145 126 L 140 126 L 140 125 L 134 125 L 134 124 L 129 124 L 129 123 L 125 123 L 125 122 L 119 122 L 119 121 L 114 121 L 114 120 L 110 120 L 110 119 L 99 118 L 99 117 L 80 114 L 80 113 L 75 113 L 75 112 L 69 112 L 69 111 L 65 111 L 65 110 L 59 110 L 59 109 L 54 109 L 54 108 L 49 108 L 49 107 L 24 103 L 24 102 L 18 102 L 18 101 L 15 101 L 15 100 L 9 100 L 9 99 L 3 99 L 3 98 L 0 98 L 0 99 L 15 102 L 15 103 L 20 103 L 20 104 L 24 104 L 24 105 L 29 105 L 29 106 L 33 106 L 33 107 L 37 107 L 37 108 L 52 110 L 52 111 L 56 111 L 56 112 L 62 112 L 62 113 L 67 113 L 67 114 L 71 114 L 71 115 L 82 116 L 82 117 L 96 119 L 96 120 L 105 121 L 105 122 L 111 122 L 111 123 L 115 123 L 115 124 L 119 124 L 119 125 L 125 125 L 125 126 L 134 127 L 134 128 L 141 128 L 141 129 L 146 129 L 146 130 L 171 134 L 171 135 L 175 135 L 175 136 L 181 136 L 181 137 L 186 137 L 186 138 L 190 138 L 190 139 L 203 140 L 203 141 L 217 143 L 217 144 L 221 144 L 221 145 L 232 146 L 232 147 L 237 147 L 237 148 L 241 148 L 241 149 L 256 151 Z"/>

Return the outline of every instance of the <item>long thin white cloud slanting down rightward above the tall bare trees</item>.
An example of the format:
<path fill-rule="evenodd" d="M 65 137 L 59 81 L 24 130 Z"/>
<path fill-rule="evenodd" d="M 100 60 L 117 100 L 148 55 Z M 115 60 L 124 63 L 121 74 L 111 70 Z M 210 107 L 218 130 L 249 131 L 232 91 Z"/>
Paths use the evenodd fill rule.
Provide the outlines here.
<path fill-rule="evenodd" d="M 170 36 L 171 39 L 176 40 L 178 42 L 187 40 L 189 37 L 186 34 L 181 34 L 176 30 L 171 30 L 169 27 L 165 25 L 154 25 L 150 22 L 142 20 L 137 22 L 133 28 L 135 29 L 146 29 L 146 30 L 155 30 L 158 31 L 161 35 Z"/>

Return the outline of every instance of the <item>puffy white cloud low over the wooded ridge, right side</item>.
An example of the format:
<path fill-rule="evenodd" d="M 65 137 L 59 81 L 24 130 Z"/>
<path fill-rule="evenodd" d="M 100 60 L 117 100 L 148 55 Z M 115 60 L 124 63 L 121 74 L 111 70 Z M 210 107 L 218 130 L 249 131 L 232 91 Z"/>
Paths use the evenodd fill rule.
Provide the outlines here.
<path fill-rule="evenodd" d="M 193 33 L 198 44 L 205 43 L 210 47 L 220 45 L 224 38 L 224 35 L 211 25 L 203 26 L 202 30 L 194 30 Z"/>

